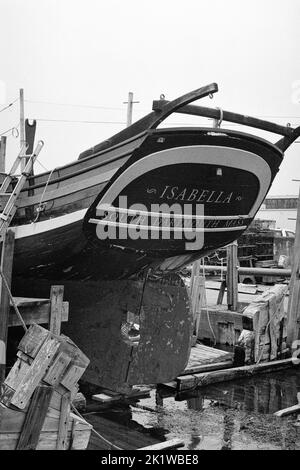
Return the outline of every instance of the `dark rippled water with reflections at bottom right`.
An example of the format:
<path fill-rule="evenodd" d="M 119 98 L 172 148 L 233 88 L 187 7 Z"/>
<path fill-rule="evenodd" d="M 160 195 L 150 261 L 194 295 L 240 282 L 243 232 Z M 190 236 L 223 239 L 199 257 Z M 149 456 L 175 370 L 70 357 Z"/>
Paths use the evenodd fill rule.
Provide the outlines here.
<path fill-rule="evenodd" d="M 152 390 L 137 406 L 115 406 L 101 416 L 122 425 L 123 434 L 135 429 L 160 440 L 180 438 L 186 450 L 300 450 L 297 415 L 274 416 L 295 405 L 298 392 L 300 372 L 290 369 L 185 395 Z"/>

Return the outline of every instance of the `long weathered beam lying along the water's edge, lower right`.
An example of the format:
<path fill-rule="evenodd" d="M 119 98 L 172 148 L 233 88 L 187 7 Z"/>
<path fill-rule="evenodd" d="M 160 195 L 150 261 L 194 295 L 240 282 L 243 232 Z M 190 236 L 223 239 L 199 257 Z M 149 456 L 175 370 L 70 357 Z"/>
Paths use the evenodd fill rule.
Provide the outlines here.
<path fill-rule="evenodd" d="M 235 380 L 242 377 L 252 377 L 255 374 L 273 372 L 275 370 L 286 369 L 288 367 L 296 367 L 294 358 L 283 359 L 280 361 L 262 362 L 251 366 L 233 367 L 202 374 L 193 374 L 177 378 L 178 390 L 189 390 L 195 387 L 202 387 L 218 382 Z M 192 377 L 194 379 L 192 379 Z"/>

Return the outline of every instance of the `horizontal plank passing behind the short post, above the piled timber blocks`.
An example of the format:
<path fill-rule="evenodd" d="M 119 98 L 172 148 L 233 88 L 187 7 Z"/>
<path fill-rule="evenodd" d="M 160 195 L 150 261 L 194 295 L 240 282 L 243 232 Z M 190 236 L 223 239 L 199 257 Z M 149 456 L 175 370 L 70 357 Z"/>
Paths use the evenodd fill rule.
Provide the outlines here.
<path fill-rule="evenodd" d="M 22 318 L 26 325 L 33 325 L 34 323 L 40 325 L 46 325 L 50 321 L 50 302 L 39 303 L 38 305 L 32 303 L 32 308 L 24 306 L 19 308 Z M 69 302 L 63 302 L 61 311 L 61 321 L 67 322 L 69 319 Z M 10 314 L 8 319 L 8 326 L 20 326 L 21 322 L 19 317 L 15 314 L 14 310 L 10 308 Z"/>

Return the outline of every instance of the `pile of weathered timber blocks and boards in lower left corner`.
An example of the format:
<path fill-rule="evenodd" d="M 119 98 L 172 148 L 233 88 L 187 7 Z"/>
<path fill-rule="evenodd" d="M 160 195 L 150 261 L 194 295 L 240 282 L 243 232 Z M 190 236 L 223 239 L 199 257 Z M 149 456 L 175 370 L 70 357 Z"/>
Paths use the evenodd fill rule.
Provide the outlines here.
<path fill-rule="evenodd" d="M 86 449 L 92 426 L 71 412 L 89 359 L 66 336 L 33 324 L 1 386 L 0 450 Z"/>

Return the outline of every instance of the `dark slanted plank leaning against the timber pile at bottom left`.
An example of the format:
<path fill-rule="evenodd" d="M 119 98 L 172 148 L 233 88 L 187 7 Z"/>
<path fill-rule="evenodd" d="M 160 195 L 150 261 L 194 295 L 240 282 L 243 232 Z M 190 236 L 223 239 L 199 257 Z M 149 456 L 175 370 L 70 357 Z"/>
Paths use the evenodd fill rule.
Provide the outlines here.
<path fill-rule="evenodd" d="M 17 450 L 36 449 L 52 395 L 52 387 L 38 386 L 29 405 Z"/>

